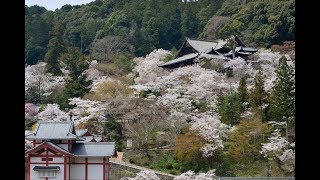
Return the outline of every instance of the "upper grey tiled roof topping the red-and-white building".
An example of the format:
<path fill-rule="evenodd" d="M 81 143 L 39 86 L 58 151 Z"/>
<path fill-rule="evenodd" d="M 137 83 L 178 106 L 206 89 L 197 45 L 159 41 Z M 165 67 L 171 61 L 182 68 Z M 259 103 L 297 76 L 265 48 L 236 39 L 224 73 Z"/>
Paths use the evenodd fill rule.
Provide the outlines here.
<path fill-rule="evenodd" d="M 74 131 L 73 121 L 38 121 L 34 133 L 27 135 L 27 140 L 76 140 L 79 137 Z"/>

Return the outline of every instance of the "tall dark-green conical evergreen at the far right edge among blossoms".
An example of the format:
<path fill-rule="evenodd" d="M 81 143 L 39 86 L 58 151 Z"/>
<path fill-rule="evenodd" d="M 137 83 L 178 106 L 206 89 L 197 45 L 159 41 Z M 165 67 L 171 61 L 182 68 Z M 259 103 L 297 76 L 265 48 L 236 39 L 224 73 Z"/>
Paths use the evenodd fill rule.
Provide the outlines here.
<path fill-rule="evenodd" d="M 286 121 L 294 117 L 295 92 L 293 69 L 282 56 L 276 70 L 277 79 L 271 93 L 270 116 L 273 121 Z"/>

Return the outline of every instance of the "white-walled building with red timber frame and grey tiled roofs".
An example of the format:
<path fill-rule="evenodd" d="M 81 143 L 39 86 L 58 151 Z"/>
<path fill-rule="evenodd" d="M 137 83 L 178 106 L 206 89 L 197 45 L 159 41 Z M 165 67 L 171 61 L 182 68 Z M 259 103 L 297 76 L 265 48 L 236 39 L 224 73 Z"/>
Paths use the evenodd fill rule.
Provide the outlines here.
<path fill-rule="evenodd" d="M 32 142 L 25 152 L 27 179 L 108 180 L 115 143 L 90 136 L 87 130 L 76 131 L 73 121 L 39 121 L 32 134 L 26 132 Z"/>

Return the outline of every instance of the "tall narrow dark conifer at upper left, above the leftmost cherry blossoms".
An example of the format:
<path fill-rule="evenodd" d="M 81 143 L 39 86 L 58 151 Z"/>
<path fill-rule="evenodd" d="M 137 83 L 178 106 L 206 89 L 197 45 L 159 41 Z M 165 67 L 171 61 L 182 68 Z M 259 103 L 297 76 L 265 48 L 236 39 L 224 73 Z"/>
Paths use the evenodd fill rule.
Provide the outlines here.
<path fill-rule="evenodd" d="M 47 62 L 46 71 L 55 76 L 61 75 L 62 71 L 59 64 L 59 56 L 65 52 L 65 47 L 62 40 L 63 26 L 61 23 L 56 23 L 53 30 L 53 38 L 48 44 L 48 52 L 44 60 Z"/>

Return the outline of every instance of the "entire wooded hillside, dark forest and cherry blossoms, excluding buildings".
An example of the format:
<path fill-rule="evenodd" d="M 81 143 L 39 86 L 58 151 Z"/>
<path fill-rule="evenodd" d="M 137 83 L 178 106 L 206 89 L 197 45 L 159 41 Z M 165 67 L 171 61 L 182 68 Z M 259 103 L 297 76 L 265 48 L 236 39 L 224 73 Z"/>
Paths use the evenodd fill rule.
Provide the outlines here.
<path fill-rule="evenodd" d="M 258 49 L 252 61 L 158 67 L 186 38 L 230 36 Z M 177 179 L 294 176 L 294 38 L 293 0 L 25 6 L 25 128 L 72 118 Z"/>

